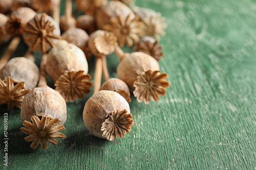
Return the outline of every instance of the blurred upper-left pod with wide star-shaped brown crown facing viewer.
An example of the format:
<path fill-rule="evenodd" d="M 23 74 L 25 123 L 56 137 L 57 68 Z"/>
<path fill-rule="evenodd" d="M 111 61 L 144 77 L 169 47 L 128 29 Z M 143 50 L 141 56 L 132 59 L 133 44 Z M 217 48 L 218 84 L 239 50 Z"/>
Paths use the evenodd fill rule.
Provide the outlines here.
<path fill-rule="evenodd" d="M 61 37 L 59 26 L 53 18 L 41 13 L 28 22 L 24 28 L 23 38 L 32 50 L 46 53 Z"/>

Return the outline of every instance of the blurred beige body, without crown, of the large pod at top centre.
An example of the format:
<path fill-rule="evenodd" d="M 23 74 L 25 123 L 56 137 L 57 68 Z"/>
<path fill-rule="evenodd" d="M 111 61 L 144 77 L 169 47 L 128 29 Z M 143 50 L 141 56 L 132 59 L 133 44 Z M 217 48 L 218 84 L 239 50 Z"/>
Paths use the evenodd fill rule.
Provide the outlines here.
<path fill-rule="evenodd" d="M 135 18 L 133 11 L 119 1 L 111 1 L 108 4 L 101 7 L 100 10 L 96 12 L 96 25 L 99 30 L 103 30 L 103 26 L 110 24 L 111 17 L 118 17 L 122 15 L 123 18 L 126 18 L 130 15 L 129 19 L 132 20 Z"/>

